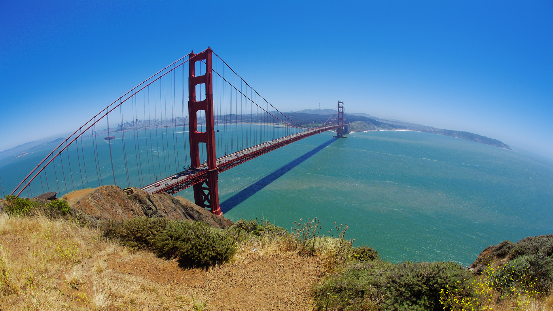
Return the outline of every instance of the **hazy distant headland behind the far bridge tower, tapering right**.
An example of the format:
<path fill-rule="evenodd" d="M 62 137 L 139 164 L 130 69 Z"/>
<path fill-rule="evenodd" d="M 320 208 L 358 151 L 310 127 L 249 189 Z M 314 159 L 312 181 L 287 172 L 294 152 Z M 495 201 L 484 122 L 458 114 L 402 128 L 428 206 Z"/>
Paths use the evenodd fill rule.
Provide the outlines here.
<path fill-rule="evenodd" d="M 316 113 L 309 113 L 315 111 Z M 326 114 L 322 112 L 327 112 Z M 317 109 L 317 110 L 301 110 L 297 112 L 286 112 L 286 116 L 292 120 L 303 124 L 321 124 L 328 120 L 331 113 L 335 112 L 330 109 Z M 332 116 L 334 118 L 335 115 Z M 507 144 L 498 141 L 497 139 L 489 138 L 486 136 L 474 134 L 471 132 L 452 131 L 451 129 L 441 129 L 430 126 L 419 125 L 415 123 L 409 123 L 398 120 L 387 120 L 377 117 L 372 117 L 366 113 L 346 113 L 345 119 L 349 122 L 349 130 L 351 132 L 363 132 L 363 131 L 391 131 L 398 129 L 408 129 L 410 131 L 419 131 L 432 134 L 440 134 L 444 136 L 451 136 L 466 139 L 467 141 L 473 141 L 483 144 L 489 144 L 491 146 L 512 150 Z"/>

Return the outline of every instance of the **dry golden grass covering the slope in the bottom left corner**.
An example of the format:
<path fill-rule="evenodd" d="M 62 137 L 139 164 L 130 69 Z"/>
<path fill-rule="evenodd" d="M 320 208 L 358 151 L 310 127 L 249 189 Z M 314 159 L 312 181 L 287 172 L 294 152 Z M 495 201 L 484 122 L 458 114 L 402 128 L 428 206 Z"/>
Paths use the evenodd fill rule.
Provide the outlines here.
<path fill-rule="evenodd" d="M 64 220 L 0 215 L 0 310 L 205 308 L 201 292 L 114 272 L 111 253 L 148 256 Z"/>

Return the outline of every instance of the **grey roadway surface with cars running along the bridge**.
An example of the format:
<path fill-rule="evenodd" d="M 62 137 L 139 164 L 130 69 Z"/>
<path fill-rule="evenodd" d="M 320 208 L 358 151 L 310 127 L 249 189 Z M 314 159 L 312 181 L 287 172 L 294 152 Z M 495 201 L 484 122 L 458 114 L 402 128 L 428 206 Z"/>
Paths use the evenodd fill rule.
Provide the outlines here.
<path fill-rule="evenodd" d="M 306 134 L 310 134 L 310 133 L 313 133 L 313 132 L 327 131 L 328 128 L 330 128 L 330 127 L 309 129 L 307 131 L 299 132 L 299 133 L 296 133 L 296 134 L 291 134 L 289 136 L 281 137 L 281 138 L 278 138 L 278 139 L 273 139 L 272 141 L 264 142 L 262 144 L 258 144 L 257 146 L 253 146 L 253 147 L 243 149 L 243 150 L 238 151 L 238 152 L 234 152 L 234 153 L 225 155 L 224 157 L 221 157 L 221 158 L 217 159 L 217 167 L 219 167 L 221 164 L 225 164 L 225 163 L 227 163 L 231 160 L 235 160 L 235 159 L 238 159 L 238 158 L 241 158 L 241 157 L 245 157 L 248 154 L 258 152 L 260 149 L 270 147 L 274 144 L 279 144 L 281 142 L 289 141 L 289 140 L 294 139 L 296 137 L 304 136 Z M 160 179 L 160 180 L 158 180 L 157 182 L 155 182 L 153 184 L 149 184 L 147 186 L 144 186 L 142 188 L 142 190 L 144 190 L 145 192 L 147 192 L 149 194 L 160 193 L 164 189 L 172 188 L 174 185 L 184 183 L 186 180 L 189 180 L 189 179 L 192 179 L 192 178 L 195 178 L 195 177 L 200 177 L 202 174 L 205 174 L 206 172 L 207 172 L 207 163 L 204 163 L 204 164 L 200 165 L 199 167 L 187 169 L 187 170 L 184 170 L 184 171 L 182 171 L 178 174 L 171 175 L 171 176 L 169 176 L 167 178 L 164 178 L 164 179 Z"/>

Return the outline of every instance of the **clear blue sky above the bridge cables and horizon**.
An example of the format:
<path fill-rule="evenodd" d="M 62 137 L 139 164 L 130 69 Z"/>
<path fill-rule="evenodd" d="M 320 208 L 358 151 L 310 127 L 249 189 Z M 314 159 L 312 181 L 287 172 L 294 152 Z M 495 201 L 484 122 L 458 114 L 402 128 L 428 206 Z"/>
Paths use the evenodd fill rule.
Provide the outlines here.
<path fill-rule="evenodd" d="M 553 158 L 551 1 L 0 1 L 0 151 L 208 45 L 281 111 L 343 100 Z"/>

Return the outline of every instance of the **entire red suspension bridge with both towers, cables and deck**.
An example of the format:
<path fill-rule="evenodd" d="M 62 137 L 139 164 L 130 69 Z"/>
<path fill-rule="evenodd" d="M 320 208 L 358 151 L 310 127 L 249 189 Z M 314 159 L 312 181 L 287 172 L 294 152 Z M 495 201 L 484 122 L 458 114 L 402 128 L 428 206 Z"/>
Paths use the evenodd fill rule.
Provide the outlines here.
<path fill-rule="evenodd" d="M 175 61 L 93 116 L 12 195 L 104 184 L 174 194 L 192 186 L 195 203 L 220 215 L 219 173 L 314 134 L 336 129 L 342 137 L 348 131 L 343 102 L 335 112 L 320 126 L 301 125 L 207 48 Z"/>

